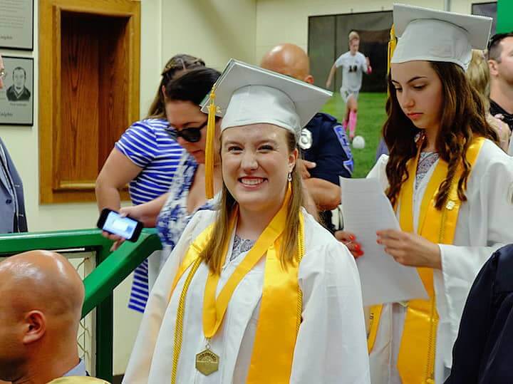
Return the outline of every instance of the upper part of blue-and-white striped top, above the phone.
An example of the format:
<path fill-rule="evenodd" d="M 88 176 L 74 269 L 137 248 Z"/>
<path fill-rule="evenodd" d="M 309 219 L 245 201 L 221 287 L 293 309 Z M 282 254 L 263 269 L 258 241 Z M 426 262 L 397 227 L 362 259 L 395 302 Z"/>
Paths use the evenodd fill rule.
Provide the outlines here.
<path fill-rule="evenodd" d="M 142 168 L 128 186 L 134 205 L 149 202 L 169 190 L 183 148 L 166 132 L 168 125 L 165 119 L 138 121 L 115 143 L 123 155 Z"/>

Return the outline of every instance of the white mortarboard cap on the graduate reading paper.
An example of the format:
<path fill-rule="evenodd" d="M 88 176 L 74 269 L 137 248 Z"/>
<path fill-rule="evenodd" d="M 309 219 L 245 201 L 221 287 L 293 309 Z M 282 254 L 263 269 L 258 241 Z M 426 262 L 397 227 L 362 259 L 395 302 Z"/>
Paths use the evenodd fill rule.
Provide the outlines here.
<path fill-rule="evenodd" d="M 398 43 L 392 63 L 446 61 L 465 71 L 472 48 L 487 46 L 492 19 L 435 9 L 394 4 L 393 20 Z"/>

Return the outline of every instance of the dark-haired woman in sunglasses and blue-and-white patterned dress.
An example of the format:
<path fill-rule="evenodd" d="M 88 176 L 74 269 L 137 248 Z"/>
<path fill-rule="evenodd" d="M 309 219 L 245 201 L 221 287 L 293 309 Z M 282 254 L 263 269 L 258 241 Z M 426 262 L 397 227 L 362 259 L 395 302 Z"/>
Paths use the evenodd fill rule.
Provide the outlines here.
<path fill-rule="evenodd" d="M 204 192 L 204 159 L 207 132 L 207 115 L 201 112 L 199 103 L 217 81 L 219 72 L 212 68 L 187 71 L 165 87 L 165 112 L 167 133 L 175 137 L 185 149 L 178 161 L 175 177 L 166 194 L 145 204 L 120 209 L 121 214 L 138 219 L 145 227 L 157 227 L 164 249 L 157 257 L 148 260 L 147 271 L 136 271 L 130 303 L 144 311 L 147 291 L 159 274 L 162 265 L 175 247 L 185 226 L 195 212 L 212 209 L 213 202 Z M 220 171 L 214 167 L 214 180 L 220 185 Z M 105 236 L 115 240 L 117 249 L 124 239 L 113 234 Z M 148 276 L 150 271 L 151 276 Z M 150 277 L 150 279 L 149 279 Z"/>

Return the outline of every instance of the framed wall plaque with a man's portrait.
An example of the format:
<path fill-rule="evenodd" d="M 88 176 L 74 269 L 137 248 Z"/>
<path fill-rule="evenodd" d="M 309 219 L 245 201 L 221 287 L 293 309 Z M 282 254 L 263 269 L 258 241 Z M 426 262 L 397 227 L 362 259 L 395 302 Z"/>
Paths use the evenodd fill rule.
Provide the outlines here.
<path fill-rule="evenodd" d="M 0 125 L 33 125 L 33 58 L 2 58 L 6 78 L 0 90 Z"/>

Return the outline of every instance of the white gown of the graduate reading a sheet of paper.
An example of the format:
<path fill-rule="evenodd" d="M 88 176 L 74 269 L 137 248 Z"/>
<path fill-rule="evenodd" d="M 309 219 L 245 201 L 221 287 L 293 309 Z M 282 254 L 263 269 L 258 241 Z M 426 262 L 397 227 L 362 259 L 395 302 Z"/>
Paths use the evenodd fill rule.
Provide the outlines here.
<path fill-rule="evenodd" d="M 388 156 L 380 157 L 368 175 L 378 177 L 383 189 L 388 187 L 385 173 L 387 161 Z M 420 204 L 436 165 L 437 162 L 414 193 L 415 231 Z M 440 316 L 435 356 L 436 384 L 442 384 L 450 373 L 452 346 L 475 276 L 495 250 L 504 244 L 513 243 L 513 158 L 490 140 L 485 140 L 477 157 L 466 195 L 467 202 L 460 207 L 454 242 L 452 245 L 439 244 L 442 270 L 434 271 L 436 304 Z M 404 318 L 404 306 L 398 303 L 383 306 L 370 356 L 373 384 L 401 383 L 396 367 Z"/>

